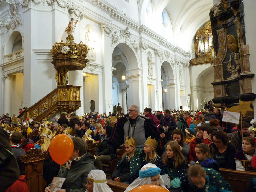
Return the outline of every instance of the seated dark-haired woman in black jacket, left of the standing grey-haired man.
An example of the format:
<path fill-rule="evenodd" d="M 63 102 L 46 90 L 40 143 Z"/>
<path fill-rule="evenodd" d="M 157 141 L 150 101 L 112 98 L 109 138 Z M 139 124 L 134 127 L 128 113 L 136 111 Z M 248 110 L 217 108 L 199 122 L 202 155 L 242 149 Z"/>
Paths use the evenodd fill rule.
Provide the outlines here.
<path fill-rule="evenodd" d="M 106 164 L 107 162 L 111 161 L 115 156 L 113 147 L 107 144 L 110 138 L 111 132 L 112 132 L 111 126 L 104 127 L 104 130 L 103 130 L 104 136 L 101 137 L 101 139 L 99 140 L 98 146 L 95 151 L 96 159 L 101 160 L 103 164 Z"/>

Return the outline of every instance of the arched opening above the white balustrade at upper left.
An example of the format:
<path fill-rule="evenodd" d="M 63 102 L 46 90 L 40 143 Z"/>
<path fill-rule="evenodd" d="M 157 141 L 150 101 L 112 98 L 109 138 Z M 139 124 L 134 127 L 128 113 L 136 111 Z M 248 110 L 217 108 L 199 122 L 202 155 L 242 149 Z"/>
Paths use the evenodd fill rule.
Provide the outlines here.
<path fill-rule="evenodd" d="M 17 41 L 20 41 L 21 42 L 19 43 L 19 47 L 22 49 L 23 48 L 23 45 L 24 45 L 24 40 L 23 40 L 23 35 L 21 34 L 21 32 L 19 32 L 18 30 L 15 30 L 13 31 L 12 33 L 10 33 L 7 38 L 6 38 L 6 42 L 5 42 L 5 45 L 4 45 L 4 55 L 9 55 L 13 52 L 13 47 L 14 47 L 14 44 L 17 43 Z M 17 45 L 17 44 L 16 44 Z M 21 46 L 20 46 L 21 45 Z M 16 46 L 16 49 L 17 47 Z M 16 50 L 14 49 L 14 50 Z M 17 50 L 16 50 L 17 51 Z"/>

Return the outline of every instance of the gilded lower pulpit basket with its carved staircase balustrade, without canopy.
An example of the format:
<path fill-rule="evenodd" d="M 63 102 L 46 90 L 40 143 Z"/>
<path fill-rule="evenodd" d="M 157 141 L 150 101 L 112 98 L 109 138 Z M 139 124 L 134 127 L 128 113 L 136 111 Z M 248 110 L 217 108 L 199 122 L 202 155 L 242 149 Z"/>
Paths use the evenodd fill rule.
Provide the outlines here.
<path fill-rule="evenodd" d="M 67 113 L 76 111 L 81 106 L 80 88 L 81 86 L 74 85 L 57 86 L 51 93 L 22 112 L 18 118 L 42 121 L 52 117 L 59 109 Z"/>

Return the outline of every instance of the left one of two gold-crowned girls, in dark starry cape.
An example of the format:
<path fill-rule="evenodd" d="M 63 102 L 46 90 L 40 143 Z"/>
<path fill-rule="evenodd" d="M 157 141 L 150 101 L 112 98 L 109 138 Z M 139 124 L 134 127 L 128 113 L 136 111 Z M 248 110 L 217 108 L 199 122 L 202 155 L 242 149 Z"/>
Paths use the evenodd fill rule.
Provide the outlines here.
<path fill-rule="evenodd" d="M 136 148 L 136 145 L 136 139 L 126 137 L 125 153 L 112 174 L 112 180 L 130 184 L 138 177 L 143 156 L 141 149 Z"/>

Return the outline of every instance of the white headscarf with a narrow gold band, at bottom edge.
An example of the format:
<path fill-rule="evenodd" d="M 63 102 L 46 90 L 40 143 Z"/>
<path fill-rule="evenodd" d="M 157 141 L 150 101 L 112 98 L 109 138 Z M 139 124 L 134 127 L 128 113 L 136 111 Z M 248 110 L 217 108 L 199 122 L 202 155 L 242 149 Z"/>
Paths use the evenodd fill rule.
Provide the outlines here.
<path fill-rule="evenodd" d="M 94 192 L 113 192 L 111 188 L 107 185 L 107 177 L 102 170 L 93 169 L 90 171 L 87 177 L 88 180 L 93 181 L 93 191 Z M 86 189 L 85 192 L 88 192 Z"/>

